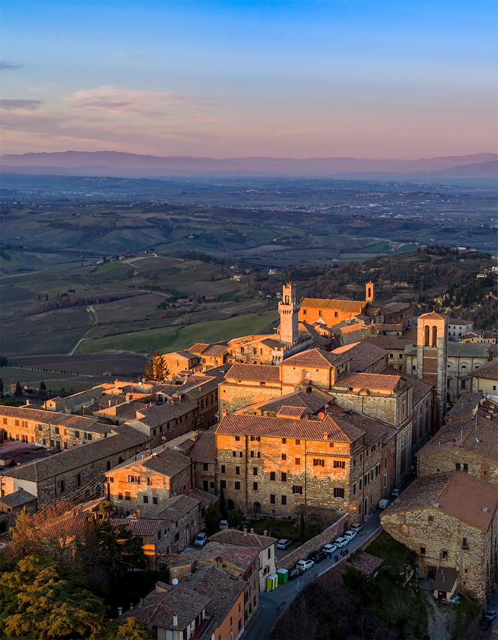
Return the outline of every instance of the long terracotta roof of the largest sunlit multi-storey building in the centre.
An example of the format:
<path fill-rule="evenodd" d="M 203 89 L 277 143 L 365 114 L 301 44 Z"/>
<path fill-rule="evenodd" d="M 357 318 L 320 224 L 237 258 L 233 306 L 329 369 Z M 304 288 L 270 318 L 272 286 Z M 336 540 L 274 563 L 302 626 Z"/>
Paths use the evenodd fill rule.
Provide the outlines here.
<path fill-rule="evenodd" d="M 345 420 L 326 416 L 323 420 L 293 420 L 262 415 L 229 413 L 216 428 L 220 435 L 254 435 L 267 438 L 297 438 L 298 440 L 325 440 L 326 442 L 353 442 L 364 431 Z M 326 437 L 325 437 L 326 433 Z"/>

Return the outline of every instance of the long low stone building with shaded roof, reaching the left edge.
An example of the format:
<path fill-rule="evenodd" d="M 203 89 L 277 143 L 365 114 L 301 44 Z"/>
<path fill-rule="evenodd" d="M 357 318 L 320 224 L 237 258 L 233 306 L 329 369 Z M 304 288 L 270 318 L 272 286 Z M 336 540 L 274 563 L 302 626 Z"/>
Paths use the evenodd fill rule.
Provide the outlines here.
<path fill-rule="evenodd" d="M 127 425 L 113 428 L 108 438 L 71 447 L 0 472 L 1 495 L 20 488 L 35 495 L 38 507 L 52 500 L 83 500 L 102 495 L 104 473 L 144 451 L 150 440 Z"/>

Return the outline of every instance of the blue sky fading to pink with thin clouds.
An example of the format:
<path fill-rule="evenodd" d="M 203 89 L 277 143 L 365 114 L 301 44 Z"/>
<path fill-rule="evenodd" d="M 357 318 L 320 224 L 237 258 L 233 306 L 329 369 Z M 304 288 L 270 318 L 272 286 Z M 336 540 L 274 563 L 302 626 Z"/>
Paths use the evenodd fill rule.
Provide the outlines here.
<path fill-rule="evenodd" d="M 496 152 L 495 0 L 3 0 L 1 151 Z"/>

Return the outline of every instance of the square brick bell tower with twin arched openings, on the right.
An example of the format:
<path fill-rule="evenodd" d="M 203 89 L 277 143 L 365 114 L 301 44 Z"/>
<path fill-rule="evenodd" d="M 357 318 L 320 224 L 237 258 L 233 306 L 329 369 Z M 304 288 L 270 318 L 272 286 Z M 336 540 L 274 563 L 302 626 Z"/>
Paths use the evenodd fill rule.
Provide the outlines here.
<path fill-rule="evenodd" d="M 417 378 L 434 385 L 434 431 L 443 424 L 446 409 L 448 320 L 435 312 L 417 320 Z"/>

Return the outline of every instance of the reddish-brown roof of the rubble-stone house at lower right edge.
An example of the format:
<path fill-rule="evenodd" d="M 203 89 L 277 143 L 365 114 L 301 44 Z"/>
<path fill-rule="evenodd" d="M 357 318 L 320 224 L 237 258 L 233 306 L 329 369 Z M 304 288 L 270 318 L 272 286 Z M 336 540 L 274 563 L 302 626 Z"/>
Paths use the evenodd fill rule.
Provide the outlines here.
<path fill-rule="evenodd" d="M 487 531 L 497 506 L 498 492 L 495 486 L 458 471 L 417 478 L 389 505 L 385 513 L 437 509 Z"/>

